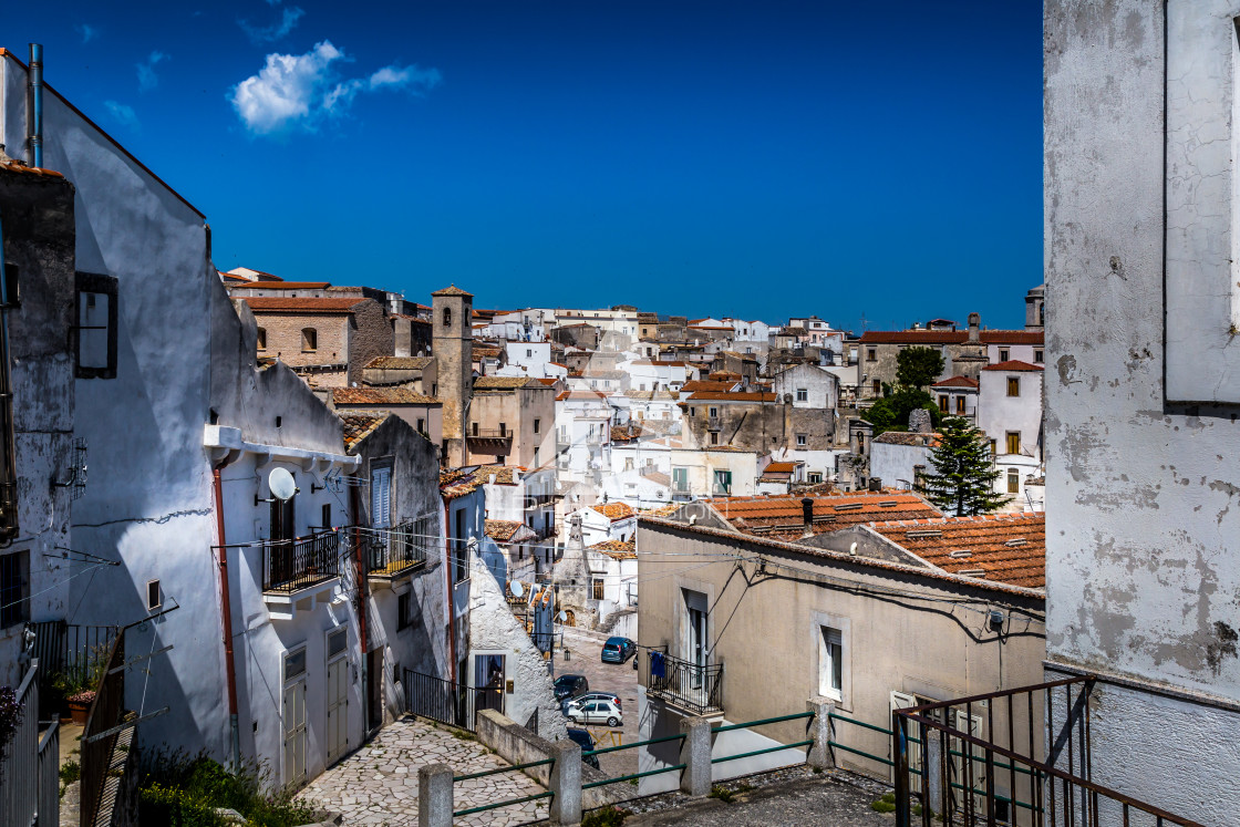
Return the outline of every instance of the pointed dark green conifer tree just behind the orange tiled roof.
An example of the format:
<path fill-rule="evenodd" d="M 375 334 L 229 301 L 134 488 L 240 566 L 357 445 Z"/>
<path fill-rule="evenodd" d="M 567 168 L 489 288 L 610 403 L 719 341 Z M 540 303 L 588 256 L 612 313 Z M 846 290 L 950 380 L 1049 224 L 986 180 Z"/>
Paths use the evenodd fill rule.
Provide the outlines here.
<path fill-rule="evenodd" d="M 999 470 L 991 461 L 986 435 L 961 417 L 945 417 L 939 445 L 930 455 L 935 474 L 918 480 L 916 491 L 945 513 L 985 515 L 1009 497 L 994 491 Z"/>

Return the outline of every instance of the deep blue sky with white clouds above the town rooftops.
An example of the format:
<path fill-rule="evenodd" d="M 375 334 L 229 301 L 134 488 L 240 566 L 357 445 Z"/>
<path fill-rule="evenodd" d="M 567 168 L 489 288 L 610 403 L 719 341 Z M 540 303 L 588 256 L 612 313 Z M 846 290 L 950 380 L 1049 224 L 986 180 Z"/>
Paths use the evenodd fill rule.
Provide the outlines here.
<path fill-rule="evenodd" d="M 476 306 L 1023 322 L 1042 4 L 58 4 L 0 45 L 216 264 Z"/>

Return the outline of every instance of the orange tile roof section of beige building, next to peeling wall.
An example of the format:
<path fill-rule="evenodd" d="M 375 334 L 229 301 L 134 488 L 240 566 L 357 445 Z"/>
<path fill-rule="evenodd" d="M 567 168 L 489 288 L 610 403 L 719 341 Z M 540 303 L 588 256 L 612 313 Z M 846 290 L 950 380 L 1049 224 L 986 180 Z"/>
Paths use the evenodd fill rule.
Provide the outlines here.
<path fill-rule="evenodd" d="M 1047 588 L 1044 513 L 872 522 L 870 528 L 951 574 Z"/>

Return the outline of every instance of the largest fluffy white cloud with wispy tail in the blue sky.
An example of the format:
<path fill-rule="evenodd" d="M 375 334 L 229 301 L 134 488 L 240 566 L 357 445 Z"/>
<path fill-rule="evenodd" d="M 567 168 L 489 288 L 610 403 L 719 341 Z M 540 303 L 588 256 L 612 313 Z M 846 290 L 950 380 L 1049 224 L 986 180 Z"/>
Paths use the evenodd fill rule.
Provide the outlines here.
<path fill-rule="evenodd" d="M 386 66 L 365 78 L 341 79 L 335 71 L 339 62 L 350 58 L 330 41 L 305 55 L 273 52 L 258 74 L 231 89 L 229 100 L 250 133 L 272 135 L 294 126 L 314 130 L 324 118 L 348 109 L 358 93 L 403 89 L 420 94 L 441 81 L 439 69 L 415 66 Z"/>

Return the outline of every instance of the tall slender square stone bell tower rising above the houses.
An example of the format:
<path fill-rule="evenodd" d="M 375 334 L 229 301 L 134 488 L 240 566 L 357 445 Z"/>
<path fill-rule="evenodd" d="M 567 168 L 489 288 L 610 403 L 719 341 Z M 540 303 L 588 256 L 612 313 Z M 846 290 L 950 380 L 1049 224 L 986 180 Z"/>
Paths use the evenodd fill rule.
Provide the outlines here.
<path fill-rule="evenodd" d="M 432 355 L 444 403 L 443 464 L 465 464 L 465 419 L 474 391 L 474 296 L 456 285 L 430 294 Z"/>

